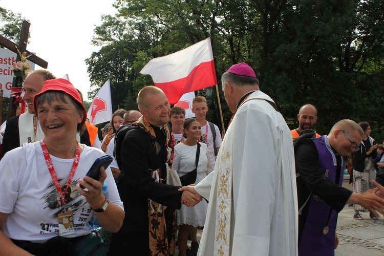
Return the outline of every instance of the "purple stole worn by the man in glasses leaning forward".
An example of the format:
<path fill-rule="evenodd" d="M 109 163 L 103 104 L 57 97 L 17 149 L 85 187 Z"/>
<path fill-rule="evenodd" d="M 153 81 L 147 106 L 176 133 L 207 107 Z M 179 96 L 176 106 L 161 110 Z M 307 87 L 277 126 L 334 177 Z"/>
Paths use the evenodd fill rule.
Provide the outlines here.
<path fill-rule="evenodd" d="M 319 164 L 324 176 L 332 182 L 335 182 L 337 165 L 336 157 L 330 148 L 329 141 L 325 141 L 325 138 L 326 136 L 321 136 L 313 139 L 313 141 L 315 142 L 317 148 Z M 325 143 L 327 143 L 329 147 Z M 343 183 L 343 175 L 344 168 L 340 171 L 339 180 L 335 182 L 339 186 Z M 298 254 L 301 256 L 334 255 L 336 221 L 338 213 L 314 194 L 311 194 L 311 198 L 308 203 L 308 216 L 304 225 L 302 238 L 298 246 Z M 327 229 L 326 226 L 329 228 L 328 233 L 324 231 Z"/>

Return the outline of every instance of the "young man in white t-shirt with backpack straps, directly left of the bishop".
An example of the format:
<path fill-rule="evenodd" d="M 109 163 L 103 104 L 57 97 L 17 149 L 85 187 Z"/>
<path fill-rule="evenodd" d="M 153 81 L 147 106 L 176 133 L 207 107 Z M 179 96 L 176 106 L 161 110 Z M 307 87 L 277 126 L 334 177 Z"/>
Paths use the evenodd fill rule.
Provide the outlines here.
<path fill-rule="evenodd" d="M 201 139 L 200 142 L 207 144 L 208 159 L 211 163 L 212 172 L 215 169 L 216 155 L 222 142 L 219 127 L 216 124 L 210 123 L 205 119 L 208 112 L 207 101 L 203 96 L 197 96 L 192 101 L 192 113 L 195 114 L 196 119 L 201 125 Z M 214 128 L 214 129 L 213 129 Z M 215 131 L 212 131 L 215 130 Z M 215 139 L 214 139 L 215 135 Z"/>

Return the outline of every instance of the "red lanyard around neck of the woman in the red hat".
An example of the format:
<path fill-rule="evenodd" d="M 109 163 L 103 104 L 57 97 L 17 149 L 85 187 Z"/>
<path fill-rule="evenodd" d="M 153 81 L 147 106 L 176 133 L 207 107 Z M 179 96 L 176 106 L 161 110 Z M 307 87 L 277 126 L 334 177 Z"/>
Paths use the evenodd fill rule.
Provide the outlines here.
<path fill-rule="evenodd" d="M 61 191 L 61 187 L 60 187 L 59 181 L 57 179 L 55 168 L 53 167 L 51 157 L 49 156 L 48 147 L 46 145 L 46 140 L 45 139 L 44 140 L 40 140 L 40 145 L 41 145 L 41 148 L 42 148 L 42 153 L 44 154 L 44 158 L 46 159 L 46 164 L 47 164 L 49 173 L 51 174 L 53 183 L 55 184 L 57 192 L 60 195 L 61 204 L 64 205 L 65 204 L 65 193 L 67 192 L 67 189 L 68 189 L 69 185 L 71 184 L 71 181 L 72 181 L 73 176 L 75 175 L 75 172 L 76 172 L 76 169 L 77 169 L 77 165 L 79 164 L 79 160 L 80 160 L 80 145 L 79 145 L 79 143 L 77 143 L 75 160 L 73 161 L 71 172 L 70 172 L 70 174 L 68 176 L 67 187 L 65 188 L 64 191 Z"/>

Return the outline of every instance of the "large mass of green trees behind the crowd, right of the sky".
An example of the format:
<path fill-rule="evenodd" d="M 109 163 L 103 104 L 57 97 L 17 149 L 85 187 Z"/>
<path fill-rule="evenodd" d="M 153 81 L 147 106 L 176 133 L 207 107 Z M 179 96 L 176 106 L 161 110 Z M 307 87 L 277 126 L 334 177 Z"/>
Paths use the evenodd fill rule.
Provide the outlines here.
<path fill-rule="evenodd" d="M 383 1 L 117 0 L 114 6 L 117 15 L 95 29 L 94 43 L 103 48 L 87 61 L 95 86 L 111 78 L 120 106 L 135 106 L 138 91 L 152 84 L 139 75 L 150 59 L 210 37 L 217 76 L 246 61 L 283 116 L 296 119 L 310 102 L 321 134 L 350 118 L 369 121 L 373 136 L 381 136 Z M 227 124 L 231 113 L 219 91 Z M 210 105 L 215 114 L 217 104 Z"/>

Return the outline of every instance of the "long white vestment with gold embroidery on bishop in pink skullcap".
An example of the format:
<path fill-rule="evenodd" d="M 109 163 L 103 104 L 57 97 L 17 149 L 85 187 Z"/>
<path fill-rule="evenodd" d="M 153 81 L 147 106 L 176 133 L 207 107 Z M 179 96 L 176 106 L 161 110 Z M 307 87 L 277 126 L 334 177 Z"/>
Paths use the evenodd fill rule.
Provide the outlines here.
<path fill-rule="evenodd" d="M 240 105 L 215 171 L 195 187 L 209 198 L 200 256 L 297 255 L 292 135 L 266 100 L 255 91 Z"/>

